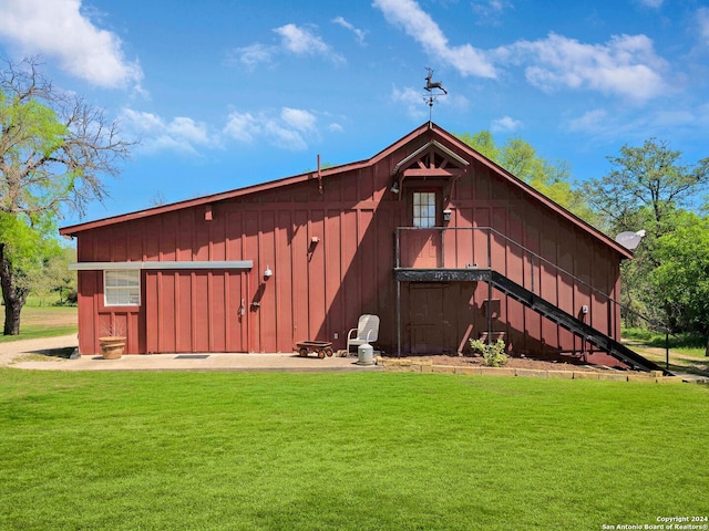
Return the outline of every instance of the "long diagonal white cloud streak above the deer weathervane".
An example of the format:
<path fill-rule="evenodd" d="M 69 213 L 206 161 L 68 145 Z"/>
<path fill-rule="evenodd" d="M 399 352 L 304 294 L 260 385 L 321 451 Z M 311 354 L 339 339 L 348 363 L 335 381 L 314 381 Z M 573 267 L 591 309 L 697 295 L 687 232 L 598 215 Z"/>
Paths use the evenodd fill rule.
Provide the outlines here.
<path fill-rule="evenodd" d="M 433 59 L 442 61 L 461 75 L 495 77 L 495 67 L 485 53 L 470 44 L 449 45 L 439 25 L 414 0 L 374 0 L 389 23 L 402 28 L 409 37 L 418 41 Z"/>

